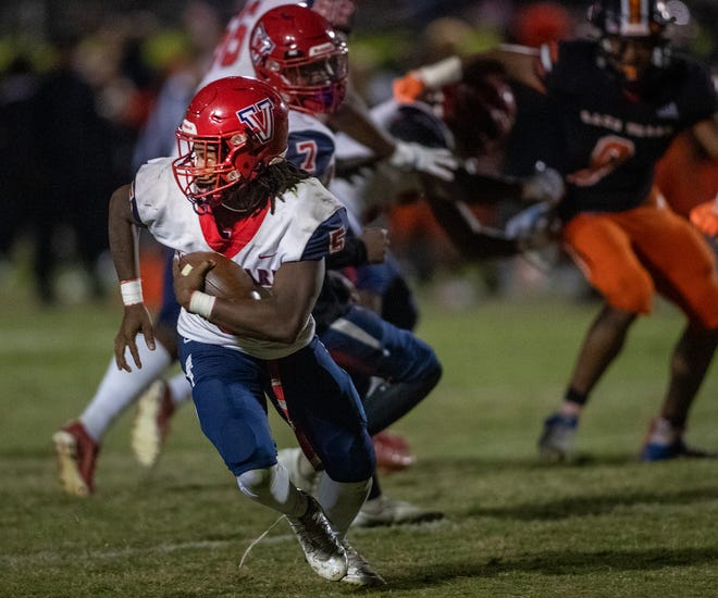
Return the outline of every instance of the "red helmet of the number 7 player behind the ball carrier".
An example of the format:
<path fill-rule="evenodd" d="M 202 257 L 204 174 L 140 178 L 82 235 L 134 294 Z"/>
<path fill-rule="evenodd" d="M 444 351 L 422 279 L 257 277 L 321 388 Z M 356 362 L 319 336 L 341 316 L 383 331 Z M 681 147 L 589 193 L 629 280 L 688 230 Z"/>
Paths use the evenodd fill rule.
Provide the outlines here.
<path fill-rule="evenodd" d="M 290 108 L 334 112 L 344 100 L 348 50 L 329 22 L 301 4 L 277 7 L 255 25 L 249 42 L 257 77 Z"/>

